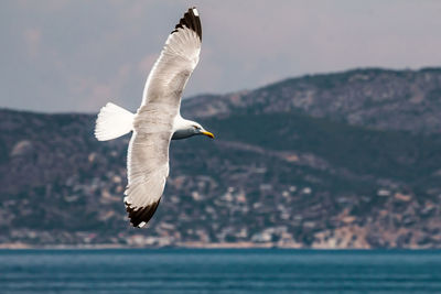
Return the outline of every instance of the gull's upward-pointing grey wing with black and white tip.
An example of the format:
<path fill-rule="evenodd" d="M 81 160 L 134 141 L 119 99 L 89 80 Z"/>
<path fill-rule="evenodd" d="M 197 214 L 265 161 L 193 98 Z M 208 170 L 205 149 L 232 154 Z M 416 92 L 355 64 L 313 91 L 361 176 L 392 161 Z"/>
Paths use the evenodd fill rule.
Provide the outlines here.
<path fill-rule="evenodd" d="M 191 8 L 169 35 L 147 78 L 141 108 L 160 102 L 179 109 L 182 91 L 200 59 L 201 42 L 201 19 L 196 8 Z"/>

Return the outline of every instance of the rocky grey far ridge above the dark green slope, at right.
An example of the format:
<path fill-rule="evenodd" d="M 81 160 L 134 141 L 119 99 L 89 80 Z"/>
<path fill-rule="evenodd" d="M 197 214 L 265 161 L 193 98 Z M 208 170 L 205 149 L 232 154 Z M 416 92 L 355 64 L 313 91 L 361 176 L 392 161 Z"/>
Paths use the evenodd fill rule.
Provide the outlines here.
<path fill-rule="evenodd" d="M 440 97 L 441 68 L 373 68 L 291 78 L 220 97 L 200 96 L 183 109 L 197 117 L 297 112 L 377 130 L 433 133 L 441 131 Z"/>

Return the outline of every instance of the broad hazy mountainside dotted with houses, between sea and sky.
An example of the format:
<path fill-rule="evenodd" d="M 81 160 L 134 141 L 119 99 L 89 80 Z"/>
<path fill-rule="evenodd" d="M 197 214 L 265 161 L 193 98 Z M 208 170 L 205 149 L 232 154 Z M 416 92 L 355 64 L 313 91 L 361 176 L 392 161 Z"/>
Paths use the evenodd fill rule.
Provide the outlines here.
<path fill-rule="evenodd" d="M 441 69 L 357 69 L 185 99 L 216 140 L 171 144 L 148 229 L 122 205 L 129 135 L 0 110 L 3 247 L 441 248 Z"/>

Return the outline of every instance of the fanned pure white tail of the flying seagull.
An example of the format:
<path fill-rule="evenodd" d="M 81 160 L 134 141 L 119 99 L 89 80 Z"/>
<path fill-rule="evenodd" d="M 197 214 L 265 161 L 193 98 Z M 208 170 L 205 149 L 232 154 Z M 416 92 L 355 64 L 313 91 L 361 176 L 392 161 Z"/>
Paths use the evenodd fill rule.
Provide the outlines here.
<path fill-rule="evenodd" d="M 99 110 L 95 126 L 98 141 L 107 141 L 121 137 L 133 130 L 133 117 L 130 111 L 108 102 Z"/>

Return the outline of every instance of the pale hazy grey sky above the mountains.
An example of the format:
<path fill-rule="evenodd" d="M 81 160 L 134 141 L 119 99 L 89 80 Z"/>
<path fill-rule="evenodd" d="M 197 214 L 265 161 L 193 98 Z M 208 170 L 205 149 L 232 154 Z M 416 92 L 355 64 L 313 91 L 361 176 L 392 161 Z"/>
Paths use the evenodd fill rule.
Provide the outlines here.
<path fill-rule="evenodd" d="M 131 110 L 191 6 L 203 26 L 184 96 L 354 67 L 441 65 L 441 1 L 1 0 L 0 107 Z"/>

